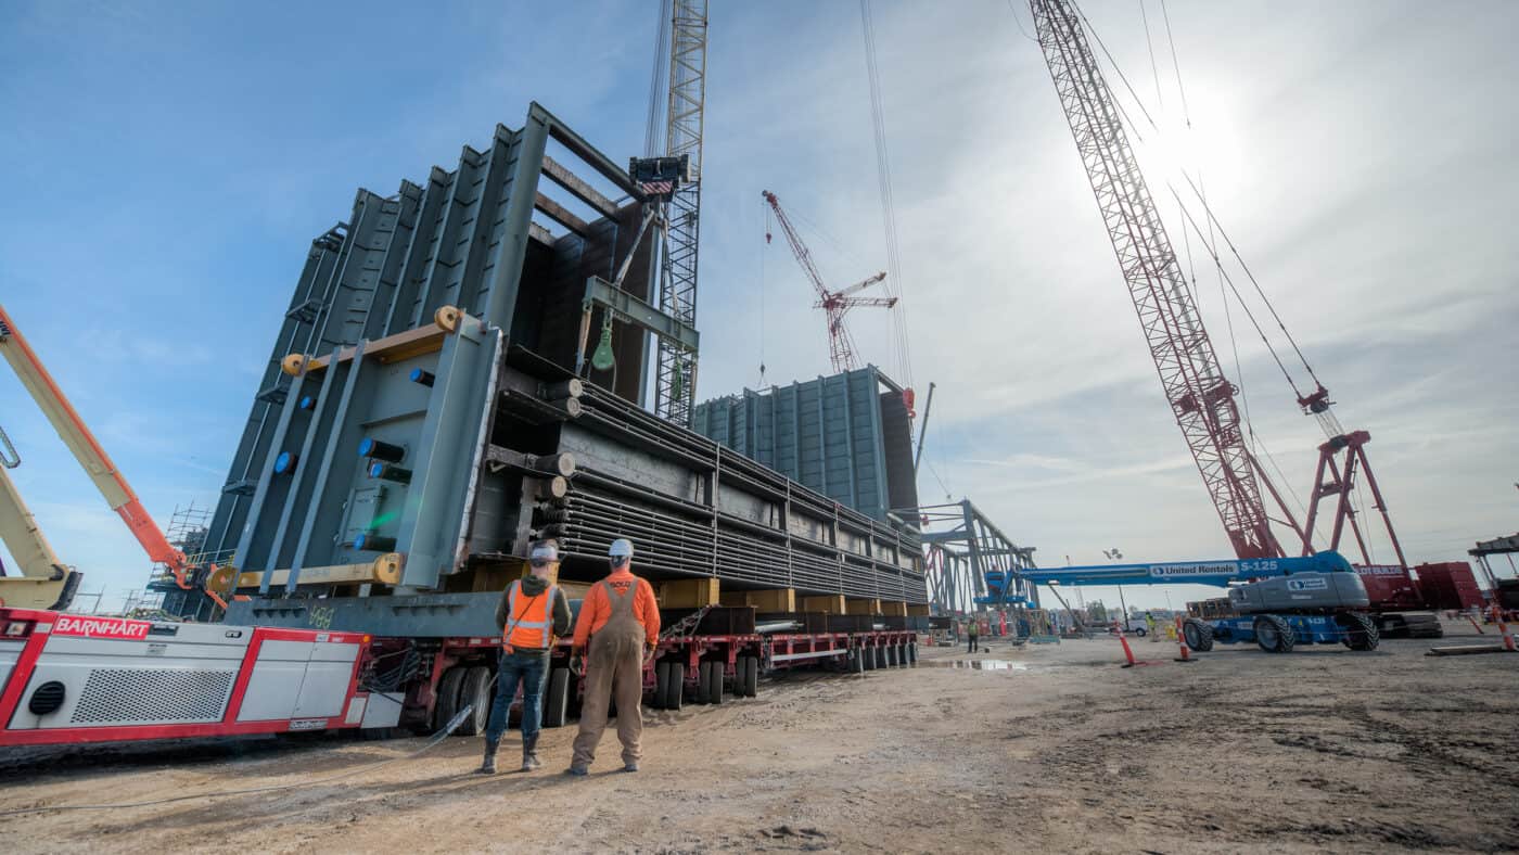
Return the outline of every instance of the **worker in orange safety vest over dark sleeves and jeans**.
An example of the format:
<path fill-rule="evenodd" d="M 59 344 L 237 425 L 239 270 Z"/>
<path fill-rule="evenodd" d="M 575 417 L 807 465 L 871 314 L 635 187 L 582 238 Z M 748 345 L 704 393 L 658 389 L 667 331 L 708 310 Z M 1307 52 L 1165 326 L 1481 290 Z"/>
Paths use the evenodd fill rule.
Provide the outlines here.
<path fill-rule="evenodd" d="M 480 775 L 495 775 L 495 752 L 501 747 L 518 683 L 523 685 L 523 771 L 542 765 L 538 759 L 538 724 L 544 712 L 544 677 L 554 636 L 570 632 L 570 600 L 550 582 L 559 568 L 559 547 L 553 541 L 533 544 L 527 563 L 529 574 L 507 585 L 495 607 L 495 626 L 501 627 L 501 662 L 491 721 L 485 729 Z"/>

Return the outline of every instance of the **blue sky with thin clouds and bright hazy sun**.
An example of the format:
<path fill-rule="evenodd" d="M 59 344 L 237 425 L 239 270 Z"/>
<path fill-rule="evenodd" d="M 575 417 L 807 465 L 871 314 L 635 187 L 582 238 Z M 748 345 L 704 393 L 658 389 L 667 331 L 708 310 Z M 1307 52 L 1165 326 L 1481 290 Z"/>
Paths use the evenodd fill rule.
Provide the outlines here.
<path fill-rule="evenodd" d="M 1139 5 L 1086 8 L 1179 123 L 1165 62 L 1154 97 Z M 1006 2 L 873 9 L 913 380 L 939 383 L 924 495 L 972 497 L 1042 563 L 1226 556 L 1037 47 Z M 1168 11 L 1188 162 L 1341 419 L 1372 431 L 1408 557 L 1513 532 L 1519 6 Z M 633 2 L 6 3 L 0 301 L 159 519 L 210 504 L 307 241 L 357 187 L 451 169 L 529 100 L 614 159 L 639 152 L 653 17 Z M 858 6 L 717 2 L 711 18 L 703 398 L 756 384 L 761 360 L 770 383 L 828 371 L 807 282 L 764 246 L 761 190 L 816 225 L 829 279 L 884 267 Z M 1244 334 L 1235 371 L 1206 273 L 1226 369 L 1302 497 L 1322 437 Z M 886 319 L 851 322 L 892 366 Z M 144 559 L 14 378 L 0 401 L 43 528 L 87 591 L 118 600 Z"/>

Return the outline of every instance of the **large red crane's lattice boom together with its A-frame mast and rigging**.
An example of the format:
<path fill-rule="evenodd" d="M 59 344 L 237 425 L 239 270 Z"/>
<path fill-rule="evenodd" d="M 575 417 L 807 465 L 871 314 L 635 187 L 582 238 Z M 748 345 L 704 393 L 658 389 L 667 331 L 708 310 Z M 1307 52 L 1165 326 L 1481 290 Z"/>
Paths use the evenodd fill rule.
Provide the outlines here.
<path fill-rule="evenodd" d="M 1285 556 L 1265 513 L 1261 494 L 1264 484 L 1282 510 L 1285 522 L 1300 539 L 1302 554 L 1314 553 L 1314 522 L 1320 506 L 1329 500 L 1335 504 L 1329 548 L 1340 548 L 1340 541 L 1349 527 L 1363 562 L 1370 565 L 1367 539 L 1350 504 L 1355 477 L 1364 474 L 1372 491 L 1372 507 L 1382 516 L 1397 563 L 1407 568 L 1408 560 L 1404 557 L 1387 503 L 1366 456 L 1366 443 L 1372 434 L 1364 430 L 1346 431 L 1340 425 L 1329 392 L 1317 383 L 1317 377 L 1314 377 L 1314 392 L 1299 393 L 1297 404 L 1318 421 L 1329 440 L 1318 446 L 1318 468 L 1309 495 L 1308 518 L 1302 527 L 1297 525 L 1281 492 L 1246 448 L 1240 430 L 1240 409 L 1233 399 L 1236 387 L 1218 364 L 1218 355 L 1197 313 L 1176 251 L 1161 223 L 1154 197 L 1150 196 L 1129 144 L 1118 105 L 1086 41 L 1080 12 L 1069 0 L 1030 0 L 1028 5 L 1039 47 L 1050 65 L 1050 77 L 1060 96 L 1060 106 L 1071 125 L 1071 135 L 1075 138 L 1092 193 L 1097 196 L 1107 237 L 1118 255 L 1118 266 L 1133 298 L 1135 311 L 1139 314 L 1150 355 L 1161 375 L 1161 386 L 1171 402 L 1176 422 L 1186 437 L 1214 507 L 1224 522 L 1235 554 L 1241 559 Z M 1217 225 L 1211 211 L 1208 219 Z M 1224 241 L 1229 241 L 1227 235 Z M 1229 248 L 1233 249 L 1233 245 L 1229 243 Z M 1214 258 L 1217 261 L 1217 255 Z M 1285 333 L 1287 328 L 1282 330 Z M 1296 343 L 1293 349 L 1297 349 Z M 1302 352 L 1297 355 L 1302 358 Z M 1306 358 L 1303 366 L 1312 377 Z M 1287 369 L 1282 371 L 1285 374 Z M 1296 392 L 1297 386 L 1293 384 L 1293 389 Z"/>

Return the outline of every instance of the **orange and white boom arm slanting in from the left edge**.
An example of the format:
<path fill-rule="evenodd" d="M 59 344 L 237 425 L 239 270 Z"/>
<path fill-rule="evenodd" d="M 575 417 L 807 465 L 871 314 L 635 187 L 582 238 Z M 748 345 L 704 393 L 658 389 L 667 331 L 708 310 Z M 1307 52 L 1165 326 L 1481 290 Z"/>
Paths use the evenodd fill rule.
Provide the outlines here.
<path fill-rule="evenodd" d="M 184 589 L 205 589 L 205 579 L 214 568 L 194 568 L 185 559 L 185 554 L 176 550 L 167 538 L 164 538 L 163 530 L 153 522 L 143 503 L 137 498 L 132 486 L 126 483 L 126 477 L 115 468 L 111 462 L 111 456 L 105 453 L 105 448 L 96 439 L 90 428 L 85 427 L 79 412 L 74 410 L 68 398 L 64 396 L 62 389 L 43 366 L 43 360 L 38 358 L 36 352 L 27 345 L 21 331 L 17 330 L 15 320 L 6 313 L 5 307 L 0 307 L 0 354 L 5 355 L 6 361 L 11 363 L 11 369 L 15 375 L 21 378 L 21 384 L 26 390 L 32 393 L 32 399 L 41 407 L 43 415 L 52 422 L 53 430 L 64 440 L 64 445 L 73 451 L 74 459 L 84 466 L 85 474 L 94 481 L 96 489 L 105 497 L 106 504 L 111 506 L 123 522 L 126 522 L 128 530 L 137 538 L 147 557 L 156 563 L 169 566 L 175 576 L 175 582 Z M 18 501 L 18 500 L 17 500 Z M 9 545 L 9 541 L 8 541 Z M 12 554 L 14 548 L 12 548 Z M 21 560 L 21 559 L 17 559 Z M 67 574 L 65 579 L 67 582 Z M 77 585 L 77 582 L 74 582 Z M 207 594 L 216 601 L 217 606 L 226 607 L 226 601 L 222 600 L 216 592 L 207 591 Z"/>

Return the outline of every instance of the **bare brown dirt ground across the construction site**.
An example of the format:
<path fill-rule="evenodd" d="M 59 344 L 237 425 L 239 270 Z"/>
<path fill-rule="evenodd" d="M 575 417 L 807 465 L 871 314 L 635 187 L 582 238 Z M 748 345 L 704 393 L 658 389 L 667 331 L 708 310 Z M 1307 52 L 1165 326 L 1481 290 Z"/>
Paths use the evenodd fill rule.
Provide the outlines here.
<path fill-rule="evenodd" d="M 1434 644 L 1475 641 L 1448 630 Z M 0 809 L 295 785 L 0 817 L 0 838 L 11 852 L 1519 849 L 1519 656 L 1425 658 L 1429 644 L 1218 647 L 1179 665 L 1173 645 L 1136 641 L 1161 664 L 1130 670 L 1112 638 L 933 648 L 916 668 L 791 674 L 756 699 L 646 711 L 643 771 L 614 771 L 609 730 L 588 779 L 561 775 L 573 727 L 544 732 L 544 770 L 495 778 L 471 775 L 478 738 L 415 758 L 424 740 L 0 755 Z"/>

